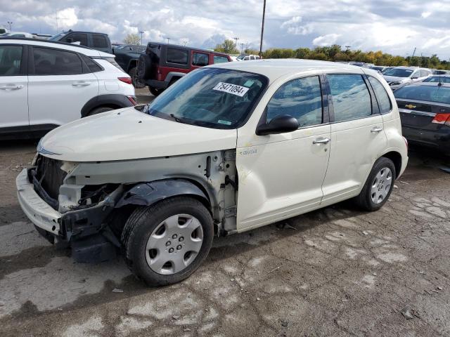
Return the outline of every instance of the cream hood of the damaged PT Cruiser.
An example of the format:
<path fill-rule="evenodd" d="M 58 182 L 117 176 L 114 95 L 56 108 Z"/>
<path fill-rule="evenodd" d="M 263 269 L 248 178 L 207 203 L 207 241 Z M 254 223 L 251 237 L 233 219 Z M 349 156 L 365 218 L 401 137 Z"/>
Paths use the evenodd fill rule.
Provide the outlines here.
<path fill-rule="evenodd" d="M 37 150 L 64 161 L 114 161 L 233 149 L 236 137 L 236 129 L 182 124 L 128 107 L 60 126 Z"/>

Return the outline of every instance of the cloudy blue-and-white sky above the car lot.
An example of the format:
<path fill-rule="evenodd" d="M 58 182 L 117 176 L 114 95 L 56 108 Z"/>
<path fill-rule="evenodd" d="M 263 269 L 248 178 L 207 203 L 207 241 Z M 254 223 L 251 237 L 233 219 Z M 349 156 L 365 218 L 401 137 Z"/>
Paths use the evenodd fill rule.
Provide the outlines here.
<path fill-rule="evenodd" d="M 105 32 L 113 42 L 214 48 L 226 38 L 259 49 L 263 0 L 0 0 L 0 26 L 56 34 Z M 263 50 L 340 44 L 394 55 L 450 58 L 450 0 L 267 0 Z"/>

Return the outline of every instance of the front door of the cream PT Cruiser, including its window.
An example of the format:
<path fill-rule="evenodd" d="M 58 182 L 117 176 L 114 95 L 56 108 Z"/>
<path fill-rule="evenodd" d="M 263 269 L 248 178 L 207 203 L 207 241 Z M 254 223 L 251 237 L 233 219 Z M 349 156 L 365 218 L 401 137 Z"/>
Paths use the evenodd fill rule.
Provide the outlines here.
<path fill-rule="evenodd" d="M 297 118 L 300 128 L 256 136 L 251 145 L 240 138 L 238 130 L 238 231 L 317 208 L 323 197 L 330 124 L 328 107 L 323 114 L 318 76 L 295 79 L 278 88 L 263 119 L 269 123 L 283 114 Z"/>

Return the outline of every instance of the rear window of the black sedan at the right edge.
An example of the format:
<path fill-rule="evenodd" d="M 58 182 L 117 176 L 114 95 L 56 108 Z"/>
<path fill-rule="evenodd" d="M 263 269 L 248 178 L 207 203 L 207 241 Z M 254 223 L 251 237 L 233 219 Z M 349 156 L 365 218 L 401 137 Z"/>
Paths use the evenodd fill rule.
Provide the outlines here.
<path fill-rule="evenodd" d="M 449 86 L 404 86 L 394 91 L 395 98 L 425 100 L 428 102 L 450 104 Z"/>

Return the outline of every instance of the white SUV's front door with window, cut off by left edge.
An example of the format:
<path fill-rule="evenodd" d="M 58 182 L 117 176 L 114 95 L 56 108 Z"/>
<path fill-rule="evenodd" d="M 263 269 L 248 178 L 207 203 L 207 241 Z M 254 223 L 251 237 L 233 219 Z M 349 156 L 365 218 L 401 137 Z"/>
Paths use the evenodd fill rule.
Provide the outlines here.
<path fill-rule="evenodd" d="M 0 129 L 28 127 L 27 46 L 0 44 Z"/>

